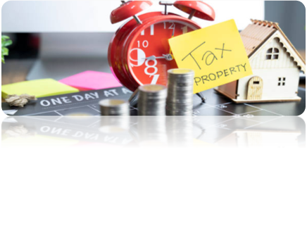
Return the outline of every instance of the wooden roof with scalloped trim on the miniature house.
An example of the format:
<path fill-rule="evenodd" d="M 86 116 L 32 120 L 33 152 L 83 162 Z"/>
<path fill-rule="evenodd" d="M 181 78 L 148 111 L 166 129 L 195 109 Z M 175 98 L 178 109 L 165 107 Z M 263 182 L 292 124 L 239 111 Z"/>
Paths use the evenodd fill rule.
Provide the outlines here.
<path fill-rule="evenodd" d="M 289 45 L 292 47 L 293 51 L 289 51 L 287 48 L 287 52 L 294 58 L 294 54 L 296 53 L 296 57 L 299 57 L 298 59 L 294 58 L 294 62 L 297 64 L 297 66 L 303 70 L 306 71 L 306 61 L 303 59 L 301 54 L 295 49 L 294 45 L 290 42 L 290 40 L 287 38 L 287 36 L 282 32 L 280 26 L 278 23 L 268 22 L 268 21 L 262 21 L 262 20 L 251 20 L 253 22 L 251 25 L 247 26 L 246 29 L 244 29 L 241 32 L 241 37 L 243 44 L 246 49 L 247 56 L 249 58 L 258 51 L 258 49 L 261 48 L 261 46 L 268 40 L 270 37 L 272 37 L 275 32 L 279 31 L 282 34 L 282 37 L 289 43 Z M 304 67 L 303 67 L 304 66 Z"/>

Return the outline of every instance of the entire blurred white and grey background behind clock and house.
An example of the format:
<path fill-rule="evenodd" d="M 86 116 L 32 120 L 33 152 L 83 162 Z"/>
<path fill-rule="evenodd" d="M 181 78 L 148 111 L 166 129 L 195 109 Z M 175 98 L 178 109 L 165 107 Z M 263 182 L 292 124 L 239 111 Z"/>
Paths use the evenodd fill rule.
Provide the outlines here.
<path fill-rule="evenodd" d="M 149 11 L 163 11 L 158 1 L 153 2 Z M 195 20 L 202 27 L 232 18 L 239 30 L 249 25 L 251 18 L 277 22 L 306 59 L 306 10 L 300 1 L 205 2 L 215 8 L 217 18 L 214 23 Z M 20 76 L 27 80 L 46 77 L 59 80 L 84 70 L 111 73 L 108 43 L 123 23 L 111 25 L 109 16 L 120 4 L 120 1 L 6 1 L 1 9 L 1 34 L 11 37 L 13 44 L 8 47 L 6 64 L 1 65 L 1 84 L 19 80 Z M 187 17 L 173 6 L 169 12 Z M 12 74 L 12 70 L 19 71 Z"/>

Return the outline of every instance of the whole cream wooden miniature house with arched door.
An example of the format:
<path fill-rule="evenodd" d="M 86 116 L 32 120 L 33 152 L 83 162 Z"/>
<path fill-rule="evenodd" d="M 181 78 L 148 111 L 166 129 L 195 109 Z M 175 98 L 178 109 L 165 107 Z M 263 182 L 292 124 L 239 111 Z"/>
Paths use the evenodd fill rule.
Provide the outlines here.
<path fill-rule="evenodd" d="M 251 20 L 241 32 L 253 75 L 218 87 L 234 103 L 301 101 L 300 73 L 306 61 L 277 23 Z"/>

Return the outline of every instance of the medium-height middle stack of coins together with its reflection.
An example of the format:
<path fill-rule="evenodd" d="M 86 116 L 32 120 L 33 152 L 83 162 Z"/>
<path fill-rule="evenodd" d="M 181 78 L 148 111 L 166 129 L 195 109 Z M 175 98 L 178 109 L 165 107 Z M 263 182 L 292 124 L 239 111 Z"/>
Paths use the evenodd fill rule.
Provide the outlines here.
<path fill-rule="evenodd" d="M 167 88 L 162 85 L 139 87 L 138 132 L 139 146 L 166 147 L 165 103 Z"/>

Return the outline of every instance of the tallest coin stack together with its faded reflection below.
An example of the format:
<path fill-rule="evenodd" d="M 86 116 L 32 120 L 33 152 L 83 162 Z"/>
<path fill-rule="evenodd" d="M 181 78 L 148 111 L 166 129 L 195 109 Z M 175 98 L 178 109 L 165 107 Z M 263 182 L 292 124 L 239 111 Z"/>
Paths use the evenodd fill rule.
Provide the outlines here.
<path fill-rule="evenodd" d="M 193 147 L 194 70 L 168 70 L 168 147 Z"/>

